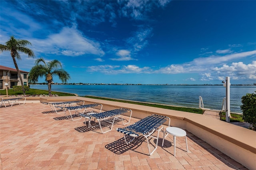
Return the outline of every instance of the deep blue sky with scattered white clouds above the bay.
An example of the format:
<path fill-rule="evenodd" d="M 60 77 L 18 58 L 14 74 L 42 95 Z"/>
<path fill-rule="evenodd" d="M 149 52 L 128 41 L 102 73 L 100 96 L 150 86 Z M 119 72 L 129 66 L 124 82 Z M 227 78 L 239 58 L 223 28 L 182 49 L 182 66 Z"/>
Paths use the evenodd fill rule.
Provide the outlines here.
<path fill-rule="evenodd" d="M 14 35 L 36 55 L 21 53 L 20 70 L 43 57 L 60 61 L 69 83 L 256 83 L 254 0 L 0 3 L 0 44 Z"/>

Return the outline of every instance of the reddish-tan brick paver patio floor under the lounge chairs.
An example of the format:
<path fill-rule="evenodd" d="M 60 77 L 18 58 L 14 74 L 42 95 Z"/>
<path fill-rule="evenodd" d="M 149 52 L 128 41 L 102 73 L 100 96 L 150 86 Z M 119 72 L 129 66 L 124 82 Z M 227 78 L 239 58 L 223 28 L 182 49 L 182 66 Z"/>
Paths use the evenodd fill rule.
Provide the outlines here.
<path fill-rule="evenodd" d="M 0 108 L 0 169 L 246 170 L 188 131 L 189 152 L 185 138 L 176 137 L 174 157 L 172 136 L 168 135 L 164 147 L 159 139 L 158 148 L 149 156 L 144 138 L 124 143 L 123 134 L 114 130 L 121 123 L 101 134 L 99 128 L 87 128 L 84 119 L 56 119 L 64 113 L 42 113 L 45 111 L 50 107 L 41 103 Z M 130 124 L 136 121 L 132 118 Z"/>

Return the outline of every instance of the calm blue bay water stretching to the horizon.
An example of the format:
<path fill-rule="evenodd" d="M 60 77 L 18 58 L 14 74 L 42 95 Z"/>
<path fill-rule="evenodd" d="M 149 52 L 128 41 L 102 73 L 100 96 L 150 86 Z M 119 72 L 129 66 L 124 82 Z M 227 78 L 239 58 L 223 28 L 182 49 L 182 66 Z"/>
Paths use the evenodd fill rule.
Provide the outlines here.
<path fill-rule="evenodd" d="M 47 85 L 30 88 L 48 90 Z M 52 85 L 52 91 L 194 108 L 198 108 L 199 96 L 202 96 L 204 108 L 218 110 L 226 97 L 224 86 Z M 242 96 L 254 91 L 256 86 L 230 86 L 230 111 L 242 113 Z"/>

